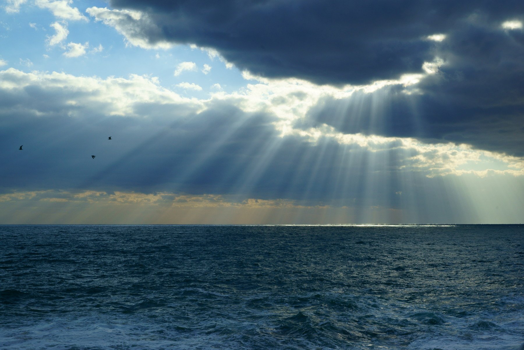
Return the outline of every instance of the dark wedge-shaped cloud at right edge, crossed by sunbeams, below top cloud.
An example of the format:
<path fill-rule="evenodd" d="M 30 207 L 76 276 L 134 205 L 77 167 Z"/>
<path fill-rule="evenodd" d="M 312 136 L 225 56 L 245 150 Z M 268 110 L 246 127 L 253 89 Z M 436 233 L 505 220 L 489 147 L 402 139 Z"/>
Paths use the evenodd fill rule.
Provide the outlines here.
<path fill-rule="evenodd" d="M 313 125 L 345 133 L 413 136 L 524 155 L 524 32 L 465 24 L 442 44 L 444 64 L 406 94 L 402 86 L 325 98 Z M 409 90 L 409 89 L 408 89 Z"/>

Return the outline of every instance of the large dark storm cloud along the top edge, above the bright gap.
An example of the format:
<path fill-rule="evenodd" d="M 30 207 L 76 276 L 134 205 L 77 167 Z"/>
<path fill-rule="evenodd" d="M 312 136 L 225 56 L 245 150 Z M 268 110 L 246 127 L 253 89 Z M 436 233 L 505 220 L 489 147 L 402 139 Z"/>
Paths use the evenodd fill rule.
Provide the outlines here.
<path fill-rule="evenodd" d="M 149 14 L 161 28 L 142 34 L 218 50 L 266 77 L 360 84 L 421 72 L 438 50 L 425 37 L 467 20 L 499 25 L 521 1 L 160 1 L 112 0 Z"/>

